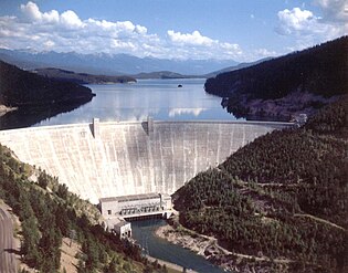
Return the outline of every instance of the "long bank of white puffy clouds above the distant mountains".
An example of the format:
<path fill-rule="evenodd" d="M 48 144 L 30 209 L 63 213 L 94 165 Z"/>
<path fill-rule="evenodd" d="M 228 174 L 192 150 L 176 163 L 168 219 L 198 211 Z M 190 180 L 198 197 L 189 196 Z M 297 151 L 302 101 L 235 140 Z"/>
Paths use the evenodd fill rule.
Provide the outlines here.
<path fill-rule="evenodd" d="M 20 10 L 19 17 L 0 17 L 0 48 L 166 59 L 235 59 L 242 54 L 238 44 L 213 40 L 199 31 L 169 30 L 160 38 L 130 21 L 82 19 L 72 10 L 41 11 L 32 1 L 21 4 Z"/>

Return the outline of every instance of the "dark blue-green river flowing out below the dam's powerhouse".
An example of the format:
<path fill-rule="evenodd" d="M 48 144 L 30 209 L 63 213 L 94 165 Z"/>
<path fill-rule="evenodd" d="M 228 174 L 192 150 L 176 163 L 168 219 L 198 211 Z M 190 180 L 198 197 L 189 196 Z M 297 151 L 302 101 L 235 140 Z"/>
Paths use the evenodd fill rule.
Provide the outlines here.
<path fill-rule="evenodd" d="M 165 224 L 166 221 L 161 219 L 131 222 L 133 238 L 141 245 L 144 254 L 148 254 L 156 259 L 168 261 L 200 273 L 224 272 L 219 266 L 211 264 L 203 256 L 156 237 L 156 229 Z"/>

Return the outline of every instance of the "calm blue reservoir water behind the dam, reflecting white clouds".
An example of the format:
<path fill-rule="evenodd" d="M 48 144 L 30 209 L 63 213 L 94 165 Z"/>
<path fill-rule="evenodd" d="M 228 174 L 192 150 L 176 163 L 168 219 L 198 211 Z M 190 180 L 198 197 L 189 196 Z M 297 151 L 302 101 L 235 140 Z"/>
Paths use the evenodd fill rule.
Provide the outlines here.
<path fill-rule="evenodd" d="M 92 102 L 34 126 L 101 122 L 235 119 L 221 106 L 221 97 L 204 92 L 204 78 L 139 80 L 134 84 L 87 85 Z M 181 84 L 182 87 L 178 87 Z"/>

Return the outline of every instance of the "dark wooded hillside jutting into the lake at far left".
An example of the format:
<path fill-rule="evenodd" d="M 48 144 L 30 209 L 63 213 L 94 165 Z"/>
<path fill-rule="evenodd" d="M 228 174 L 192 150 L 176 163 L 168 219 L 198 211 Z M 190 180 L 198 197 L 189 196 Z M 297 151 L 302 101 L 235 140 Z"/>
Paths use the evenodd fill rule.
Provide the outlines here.
<path fill-rule="evenodd" d="M 29 127 L 89 102 L 95 94 L 0 61 L 0 129 Z"/>

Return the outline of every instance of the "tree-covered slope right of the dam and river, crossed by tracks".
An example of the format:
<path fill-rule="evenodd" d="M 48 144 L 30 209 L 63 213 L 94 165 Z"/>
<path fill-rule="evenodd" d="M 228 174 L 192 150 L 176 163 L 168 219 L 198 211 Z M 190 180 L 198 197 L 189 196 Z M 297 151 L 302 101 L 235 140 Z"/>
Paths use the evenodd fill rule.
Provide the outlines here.
<path fill-rule="evenodd" d="M 257 138 L 175 193 L 180 222 L 268 272 L 347 272 L 347 129 L 346 96 Z"/>

